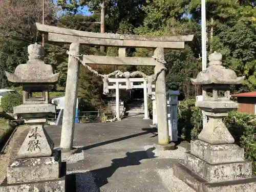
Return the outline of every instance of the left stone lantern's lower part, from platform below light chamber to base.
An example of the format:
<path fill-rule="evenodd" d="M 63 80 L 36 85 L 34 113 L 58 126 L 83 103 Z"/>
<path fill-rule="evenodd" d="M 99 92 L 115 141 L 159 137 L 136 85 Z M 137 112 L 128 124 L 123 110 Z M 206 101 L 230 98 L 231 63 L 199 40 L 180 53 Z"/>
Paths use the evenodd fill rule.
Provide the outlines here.
<path fill-rule="evenodd" d="M 27 104 L 27 109 L 33 112 L 34 106 L 31 110 L 30 105 Z M 50 112 L 52 106 L 38 104 L 39 113 L 36 115 L 25 113 L 25 106 L 19 105 L 14 111 L 22 114 L 30 125 L 30 131 L 18 151 L 17 159 L 7 167 L 7 178 L 0 186 L 0 192 L 65 192 L 66 166 L 61 166 L 61 151 L 53 150 L 54 143 L 44 128 L 47 121 L 45 112 Z"/>

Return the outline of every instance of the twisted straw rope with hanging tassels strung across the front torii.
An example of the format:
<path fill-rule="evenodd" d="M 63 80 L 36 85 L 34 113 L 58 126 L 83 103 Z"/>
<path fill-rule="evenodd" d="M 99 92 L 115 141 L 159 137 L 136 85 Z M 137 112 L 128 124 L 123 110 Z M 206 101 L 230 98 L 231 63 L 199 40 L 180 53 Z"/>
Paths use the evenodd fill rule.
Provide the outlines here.
<path fill-rule="evenodd" d="M 73 56 L 76 60 L 78 60 L 80 63 L 82 63 L 82 65 L 84 67 L 86 67 L 89 71 L 91 71 L 92 73 L 96 74 L 97 76 L 100 76 L 103 80 L 103 94 L 108 94 L 109 93 L 109 84 L 108 84 L 108 78 L 115 75 L 116 77 L 124 77 L 126 78 L 126 90 L 130 90 L 132 89 L 131 87 L 131 83 L 129 78 L 130 77 L 135 77 L 135 76 L 141 76 L 143 77 L 146 81 L 147 81 L 147 94 L 148 95 L 152 95 L 152 84 L 154 81 L 156 81 L 158 75 L 164 70 L 167 71 L 167 69 L 165 67 L 162 67 L 157 73 L 155 73 L 154 75 L 146 75 L 141 71 L 134 71 L 132 73 L 130 72 L 122 72 L 120 70 L 116 70 L 110 74 L 100 74 L 97 71 L 95 71 L 93 68 L 91 68 L 89 65 L 87 65 L 80 57 L 82 55 L 77 55 L 74 53 L 70 53 L 69 51 L 67 51 L 67 54 L 70 56 Z M 164 61 L 164 63 L 166 63 L 166 61 Z"/>

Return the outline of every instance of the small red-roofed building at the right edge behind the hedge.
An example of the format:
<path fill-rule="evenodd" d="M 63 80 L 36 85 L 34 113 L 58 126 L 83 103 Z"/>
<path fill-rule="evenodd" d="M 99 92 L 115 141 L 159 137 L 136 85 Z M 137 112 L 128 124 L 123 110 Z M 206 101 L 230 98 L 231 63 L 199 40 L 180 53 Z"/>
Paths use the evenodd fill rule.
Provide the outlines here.
<path fill-rule="evenodd" d="M 232 97 L 238 98 L 238 112 L 256 114 L 256 91 L 233 94 Z"/>

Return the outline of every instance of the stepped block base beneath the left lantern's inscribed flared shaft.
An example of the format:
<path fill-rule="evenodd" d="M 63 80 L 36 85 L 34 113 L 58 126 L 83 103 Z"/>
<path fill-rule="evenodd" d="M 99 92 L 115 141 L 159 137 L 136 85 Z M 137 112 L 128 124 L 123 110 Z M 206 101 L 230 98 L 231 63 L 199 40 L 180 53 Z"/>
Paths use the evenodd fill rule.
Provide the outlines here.
<path fill-rule="evenodd" d="M 66 167 L 61 167 L 60 151 L 51 157 L 24 158 L 12 161 L 7 167 L 7 178 L 0 192 L 66 190 Z"/>

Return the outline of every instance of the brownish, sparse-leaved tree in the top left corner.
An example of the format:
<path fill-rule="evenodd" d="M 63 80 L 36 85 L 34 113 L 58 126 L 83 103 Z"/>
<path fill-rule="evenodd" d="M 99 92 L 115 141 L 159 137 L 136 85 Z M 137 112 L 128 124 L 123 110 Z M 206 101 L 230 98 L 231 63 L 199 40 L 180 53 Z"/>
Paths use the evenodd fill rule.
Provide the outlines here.
<path fill-rule="evenodd" d="M 55 22 L 56 9 L 52 0 L 45 0 L 45 23 Z M 15 13 L 15 14 L 14 14 Z M 42 22 L 42 1 L 5 0 L 0 4 L 1 36 L 36 41 L 36 22 Z"/>

